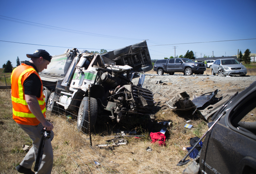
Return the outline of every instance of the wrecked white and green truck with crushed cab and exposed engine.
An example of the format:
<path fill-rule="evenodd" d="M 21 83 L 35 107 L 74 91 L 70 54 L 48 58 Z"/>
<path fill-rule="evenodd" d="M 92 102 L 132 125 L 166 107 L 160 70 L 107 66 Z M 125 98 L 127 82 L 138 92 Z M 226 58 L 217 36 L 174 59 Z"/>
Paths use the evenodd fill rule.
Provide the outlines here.
<path fill-rule="evenodd" d="M 144 72 L 133 72 L 130 78 L 124 74 L 130 74 L 132 67 L 116 63 L 100 54 L 79 52 L 76 48 L 53 56 L 48 68 L 39 73 L 47 110 L 76 111 L 77 128 L 87 133 L 90 86 L 91 128 L 97 118 L 144 126 L 151 124 L 153 93 L 142 87 Z M 134 85 L 131 81 L 136 74 L 139 83 Z"/>

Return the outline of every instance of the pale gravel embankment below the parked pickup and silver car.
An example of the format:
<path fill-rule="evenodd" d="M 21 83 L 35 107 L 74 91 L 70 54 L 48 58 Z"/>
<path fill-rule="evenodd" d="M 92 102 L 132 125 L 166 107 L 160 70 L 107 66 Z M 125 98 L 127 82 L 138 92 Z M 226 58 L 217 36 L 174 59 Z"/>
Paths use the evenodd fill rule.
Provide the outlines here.
<path fill-rule="evenodd" d="M 159 81 L 163 83 L 156 84 Z M 203 93 L 211 92 L 216 89 L 221 91 L 219 95 L 224 94 L 228 89 L 248 87 L 256 80 L 256 76 L 206 76 L 206 75 L 157 75 L 146 74 L 143 87 L 151 90 L 153 93 L 160 92 L 167 97 L 174 97 L 176 94 L 186 91 L 190 98 L 194 95 L 201 95 Z M 137 85 L 139 78 L 135 78 L 132 82 Z M 154 94 L 155 101 L 165 102 L 168 98 L 162 97 L 159 94 Z"/>

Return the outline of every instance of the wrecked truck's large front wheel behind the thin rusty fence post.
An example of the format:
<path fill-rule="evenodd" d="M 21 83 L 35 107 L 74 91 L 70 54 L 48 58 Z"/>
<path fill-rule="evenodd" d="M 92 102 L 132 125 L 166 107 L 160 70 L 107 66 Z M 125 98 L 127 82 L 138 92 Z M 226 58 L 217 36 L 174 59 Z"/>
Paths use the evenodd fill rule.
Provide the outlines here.
<path fill-rule="evenodd" d="M 84 133 L 89 133 L 89 97 L 84 97 L 77 115 L 77 129 Z M 94 128 L 97 119 L 98 105 L 95 98 L 91 98 L 91 130 Z"/>

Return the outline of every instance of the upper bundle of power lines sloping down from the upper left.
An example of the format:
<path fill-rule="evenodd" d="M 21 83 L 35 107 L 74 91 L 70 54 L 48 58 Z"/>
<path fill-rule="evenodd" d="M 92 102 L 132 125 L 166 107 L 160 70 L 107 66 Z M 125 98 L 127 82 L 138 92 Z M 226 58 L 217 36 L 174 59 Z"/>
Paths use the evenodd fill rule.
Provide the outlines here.
<path fill-rule="evenodd" d="M 73 29 L 65 29 L 65 28 L 61 28 L 61 27 L 54 27 L 54 26 L 50 26 L 50 25 L 39 24 L 39 23 L 35 23 L 35 22 L 30 22 L 30 21 L 25 21 L 25 20 L 21 20 L 21 19 L 11 18 L 11 17 L 8 17 L 8 16 L 3 16 L 3 15 L 0 15 L 0 16 L 5 17 L 5 18 L 9 18 L 9 19 L 0 18 L 0 19 L 3 19 L 3 20 L 7 20 L 7 21 L 11 21 L 11 22 L 17 22 L 17 23 L 26 24 L 26 25 L 32 25 L 32 26 L 41 27 L 41 28 L 47 28 L 47 29 L 54 29 L 54 28 L 56 28 L 54 30 L 72 32 L 72 33 L 84 34 L 84 35 L 91 35 L 91 36 L 97 36 L 97 37 L 113 38 L 113 39 L 143 40 L 143 39 L 134 39 L 134 38 L 110 36 L 110 35 L 104 35 L 104 34 L 96 34 L 96 33 L 90 33 L 90 32 L 85 32 L 85 31 L 78 31 L 78 30 L 73 30 Z M 14 20 L 12 20 L 12 19 L 14 19 Z M 15 20 L 19 20 L 19 21 L 15 21 Z M 24 22 L 20 22 L 20 21 L 24 21 Z M 29 24 L 29 23 L 26 23 L 26 22 L 29 22 L 29 23 L 32 23 L 32 24 Z M 38 24 L 38 25 L 36 25 L 36 24 Z M 40 25 L 43 25 L 43 26 L 40 26 Z M 47 26 L 47 27 L 44 27 L 44 26 Z M 54 27 L 54 28 L 52 28 L 52 27 Z"/>

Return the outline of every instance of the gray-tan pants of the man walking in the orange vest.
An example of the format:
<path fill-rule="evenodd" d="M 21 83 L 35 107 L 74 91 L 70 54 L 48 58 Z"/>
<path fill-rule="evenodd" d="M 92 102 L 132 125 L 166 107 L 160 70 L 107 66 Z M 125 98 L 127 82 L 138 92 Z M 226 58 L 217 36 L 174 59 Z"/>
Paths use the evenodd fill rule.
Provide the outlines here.
<path fill-rule="evenodd" d="M 21 124 L 18 124 L 18 126 L 20 126 L 20 128 L 22 128 L 33 141 L 32 142 L 33 146 L 31 147 L 31 149 L 29 150 L 29 152 L 27 153 L 23 161 L 20 163 L 20 165 L 26 168 L 32 168 L 32 165 L 36 159 L 38 148 L 42 138 L 42 135 L 40 134 L 40 132 L 44 128 L 44 126 L 41 123 L 37 126 L 21 125 Z M 53 139 L 53 131 L 51 131 L 51 138 L 48 140 L 45 140 L 42 162 L 36 174 L 41 174 L 41 173 L 50 174 L 52 172 L 52 168 L 53 168 L 53 148 L 51 144 L 52 139 Z"/>

